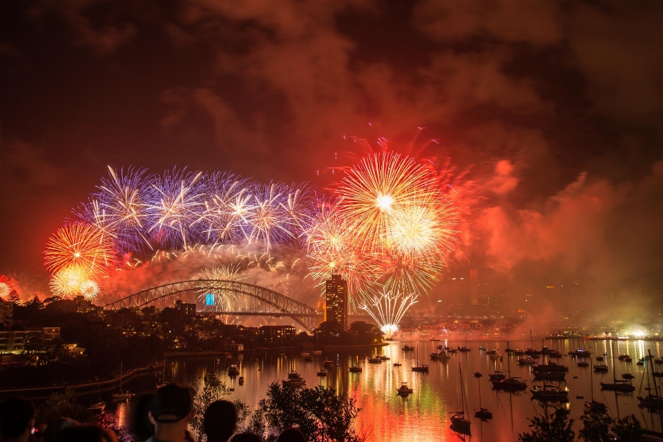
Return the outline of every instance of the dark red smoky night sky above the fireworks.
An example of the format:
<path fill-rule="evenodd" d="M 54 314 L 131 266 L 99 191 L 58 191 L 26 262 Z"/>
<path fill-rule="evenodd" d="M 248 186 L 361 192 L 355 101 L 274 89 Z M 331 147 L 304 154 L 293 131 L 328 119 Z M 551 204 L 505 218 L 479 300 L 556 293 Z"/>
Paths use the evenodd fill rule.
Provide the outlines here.
<path fill-rule="evenodd" d="M 108 165 L 324 187 L 353 136 L 422 127 L 463 215 L 450 273 L 660 298 L 661 23 L 655 0 L 2 1 L 0 273 L 45 276 Z"/>

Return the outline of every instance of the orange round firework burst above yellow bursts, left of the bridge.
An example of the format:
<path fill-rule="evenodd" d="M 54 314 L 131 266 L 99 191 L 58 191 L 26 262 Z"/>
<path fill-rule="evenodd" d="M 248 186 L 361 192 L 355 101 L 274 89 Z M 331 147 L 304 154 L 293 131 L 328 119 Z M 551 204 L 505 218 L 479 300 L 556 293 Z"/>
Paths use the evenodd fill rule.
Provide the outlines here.
<path fill-rule="evenodd" d="M 111 237 L 87 222 L 72 222 L 60 229 L 46 243 L 44 263 L 52 272 L 77 265 L 90 274 L 104 273 L 115 262 L 115 244 Z"/>

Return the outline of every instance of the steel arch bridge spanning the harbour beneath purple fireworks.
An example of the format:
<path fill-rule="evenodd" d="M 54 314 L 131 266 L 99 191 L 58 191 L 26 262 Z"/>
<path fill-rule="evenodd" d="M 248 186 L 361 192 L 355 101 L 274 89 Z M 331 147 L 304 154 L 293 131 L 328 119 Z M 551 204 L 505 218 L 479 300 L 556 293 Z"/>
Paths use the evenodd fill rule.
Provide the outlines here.
<path fill-rule="evenodd" d="M 247 282 L 229 280 L 188 280 L 173 282 L 139 291 L 126 298 L 104 305 L 104 309 L 117 310 L 122 308 L 148 307 L 159 305 L 167 307 L 175 300 L 187 300 L 195 303 L 198 310 L 200 296 L 213 292 L 222 292 L 231 295 L 233 306 L 229 310 L 215 310 L 219 314 L 236 316 L 288 316 L 296 320 L 308 332 L 312 332 L 318 325 L 322 314 L 308 305 L 296 301 L 288 296 L 259 285 Z"/>

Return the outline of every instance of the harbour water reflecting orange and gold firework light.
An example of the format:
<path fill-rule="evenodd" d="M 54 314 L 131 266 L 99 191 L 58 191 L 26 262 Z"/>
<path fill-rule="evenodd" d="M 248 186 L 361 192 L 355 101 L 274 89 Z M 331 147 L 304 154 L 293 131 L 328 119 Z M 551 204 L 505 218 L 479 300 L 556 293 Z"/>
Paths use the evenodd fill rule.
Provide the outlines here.
<path fill-rule="evenodd" d="M 265 397 L 267 386 L 275 381 L 287 378 L 291 369 L 295 369 L 307 381 L 307 387 L 315 385 L 329 385 L 356 400 L 356 405 L 361 407 L 356 421 L 356 430 L 367 437 L 367 441 L 457 441 L 461 440 L 459 434 L 450 429 L 450 413 L 460 410 L 461 407 L 461 383 L 460 372 L 463 376 L 465 396 L 468 399 L 470 409 L 471 436 L 464 436 L 464 440 L 506 442 L 517 440 L 518 434 L 528 431 L 530 422 L 528 418 L 540 415 L 544 412 L 544 405 L 531 398 L 530 388 L 532 385 L 541 385 L 542 381 L 534 381 L 531 367 L 519 365 L 519 356 L 507 356 L 503 349 L 506 341 L 475 340 L 469 342 L 470 352 L 452 354 L 452 358 L 446 361 L 430 361 L 429 354 L 436 351 L 439 344 L 447 344 L 450 347 L 465 345 L 464 340 L 441 340 L 430 341 L 392 341 L 385 347 L 378 347 L 363 352 L 325 352 L 322 356 L 312 362 L 305 362 L 299 354 L 286 352 L 287 357 L 279 356 L 276 352 L 260 355 L 239 355 L 233 358 L 181 358 L 168 361 L 166 364 L 166 381 L 175 381 L 189 385 L 202 386 L 202 378 L 208 372 L 215 372 L 229 387 L 234 389 L 227 398 L 240 400 L 254 410 L 258 401 Z M 418 348 L 415 352 L 404 352 L 403 345 L 412 345 Z M 570 410 L 570 417 L 575 419 L 574 429 L 581 427 L 579 417 L 584 411 L 584 403 L 592 398 L 591 383 L 593 381 L 593 397 L 595 401 L 605 403 L 608 412 L 613 417 L 624 417 L 635 414 L 643 427 L 651 430 L 661 431 L 661 418 L 656 412 L 651 413 L 646 408 L 637 406 L 637 395 L 642 385 L 640 394 L 647 394 L 646 387 L 646 365 L 637 365 L 641 356 L 651 350 L 654 357 L 662 354 L 661 343 L 644 340 L 619 340 L 615 341 L 614 354 L 611 350 L 610 340 L 584 340 L 582 345 L 590 350 L 591 361 L 589 367 L 578 367 L 577 358 L 568 356 L 570 350 L 577 349 L 581 345 L 577 340 L 546 340 L 545 345 L 551 349 L 557 349 L 562 356 L 553 359 L 561 365 L 567 365 L 569 371 L 566 381 L 559 383 L 564 389 L 568 387 L 569 402 L 562 405 Z M 503 355 L 503 360 L 490 358 L 486 349 L 498 349 Z M 509 347 L 524 349 L 531 347 L 529 341 L 510 342 Z M 540 347 L 540 345 L 539 345 Z M 602 362 L 608 365 L 609 372 L 606 374 L 593 373 L 592 366 L 597 363 L 595 356 L 609 353 L 610 358 Z M 381 354 L 389 359 L 379 364 L 367 362 L 367 358 Z M 617 355 L 629 354 L 633 362 L 617 360 Z M 631 373 L 635 376 L 633 393 L 615 393 L 602 391 L 599 382 L 613 381 L 613 361 L 615 356 L 615 372 L 619 379 L 623 373 Z M 326 377 L 316 376 L 323 365 L 323 360 L 334 362 L 329 368 Z M 426 363 L 430 365 L 430 372 L 412 372 L 412 365 Z M 543 361 L 541 359 L 540 361 Z M 394 363 L 401 363 L 400 367 L 394 367 Z M 649 363 L 649 362 L 648 362 Z M 240 369 L 240 376 L 244 376 L 244 384 L 239 385 L 238 378 L 227 376 L 229 365 L 236 364 Z M 649 363 L 651 366 L 651 363 Z M 349 373 L 348 367 L 359 365 L 363 368 L 361 373 Z M 663 365 L 659 366 L 663 370 Z M 654 368 L 657 368 L 654 366 Z M 498 392 L 492 389 L 488 374 L 500 369 L 512 376 L 519 377 L 528 383 L 528 389 L 523 392 L 509 393 Z M 651 367 L 650 367 L 651 369 Z M 474 377 L 474 372 L 480 372 L 481 378 Z M 161 374 L 156 376 L 144 376 L 131 381 L 129 388 L 135 392 L 153 392 L 156 382 L 160 382 Z M 396 394 L 396 389 L 402 382 L 407 382 L 414 391 L 407 397 Z M 557 381 L 546 381 L 546 384 L 558 385 Z M 481 406 L 488 408 L 493 414 L 493 419 L 482 422 L 474 418 L 473 410 L 479 408 L 479 388 L 481 389 Z M 653 390 L 652 390 L 653 393 Z M 128 409 L 131 402 L 110 405 L 110 412 L 117 414 L 120 424 L 126 422 Z M 548 406 L 552 412 L 553 407 Z"/>

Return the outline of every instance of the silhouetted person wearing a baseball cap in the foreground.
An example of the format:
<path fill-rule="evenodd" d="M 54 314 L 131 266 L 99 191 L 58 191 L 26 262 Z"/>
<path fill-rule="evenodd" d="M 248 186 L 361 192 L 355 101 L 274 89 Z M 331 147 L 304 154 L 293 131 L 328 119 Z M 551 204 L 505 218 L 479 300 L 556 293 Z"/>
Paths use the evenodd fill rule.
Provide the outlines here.
<path fill-rule="evenodd" d="M 150 403 L 154 436 L 148 442 L 182 442 L 193 419 L 193 396 L 182 385 L 168 384 L 154 394 Z"/>

